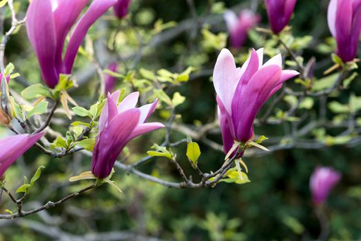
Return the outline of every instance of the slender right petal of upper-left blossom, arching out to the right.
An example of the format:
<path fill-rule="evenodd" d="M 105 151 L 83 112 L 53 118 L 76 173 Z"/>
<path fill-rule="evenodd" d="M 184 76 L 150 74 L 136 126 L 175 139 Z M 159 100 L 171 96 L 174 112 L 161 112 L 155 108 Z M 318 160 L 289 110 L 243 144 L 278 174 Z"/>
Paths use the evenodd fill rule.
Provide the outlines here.
<path fill-rule="evenodd" d="M 41 0 L 43 1 L 43 0 Z M 101 17 L 111 6 L 116 3 L 116 0 L 94 0 L 87 12 L 81 17 L 76 24 L 72 34 L 70 35 L 70 41 L 64 57 L 65 74 L 72 72 L 72 66 L 76 57 L 76 53 L 85 38 L 87 30 L 92 24 Z"/>

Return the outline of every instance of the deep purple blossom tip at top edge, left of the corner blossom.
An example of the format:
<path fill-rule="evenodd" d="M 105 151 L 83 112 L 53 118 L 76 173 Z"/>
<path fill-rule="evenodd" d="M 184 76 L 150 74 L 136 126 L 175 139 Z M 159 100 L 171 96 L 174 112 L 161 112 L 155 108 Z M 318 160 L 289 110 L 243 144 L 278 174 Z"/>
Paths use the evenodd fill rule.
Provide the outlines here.
<path fill-rule="evenodd" d="M 291 19 L 296 0 L 265 0 L 271 30 L 278 34 Z"/>

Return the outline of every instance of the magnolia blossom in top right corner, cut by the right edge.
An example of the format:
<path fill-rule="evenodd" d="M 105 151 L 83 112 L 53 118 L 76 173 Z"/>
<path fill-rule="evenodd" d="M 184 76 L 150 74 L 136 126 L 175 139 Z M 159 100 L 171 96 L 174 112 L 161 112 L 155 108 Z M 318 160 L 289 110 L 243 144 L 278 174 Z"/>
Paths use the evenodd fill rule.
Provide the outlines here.
<path fill-rule="evenodd" d="M 344 62 L 352 61 L 358 51 L 361 32 L 361 0 L 331 0 L 327 15 L 338 56 Z"/>

